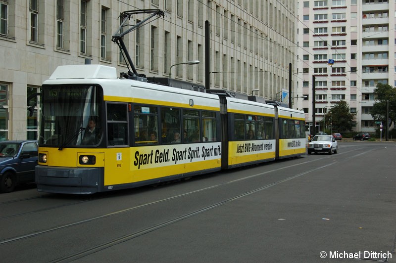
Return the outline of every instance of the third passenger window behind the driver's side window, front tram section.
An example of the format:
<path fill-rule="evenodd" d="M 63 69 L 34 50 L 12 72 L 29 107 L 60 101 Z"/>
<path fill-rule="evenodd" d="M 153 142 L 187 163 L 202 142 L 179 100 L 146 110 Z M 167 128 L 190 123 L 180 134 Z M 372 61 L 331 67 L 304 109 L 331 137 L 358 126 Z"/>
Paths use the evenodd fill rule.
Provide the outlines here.
<path fill-rule="evenodd" d="M 200 142 L 199 111 L 183 111 L 183 140 L 184 142 Z"/>

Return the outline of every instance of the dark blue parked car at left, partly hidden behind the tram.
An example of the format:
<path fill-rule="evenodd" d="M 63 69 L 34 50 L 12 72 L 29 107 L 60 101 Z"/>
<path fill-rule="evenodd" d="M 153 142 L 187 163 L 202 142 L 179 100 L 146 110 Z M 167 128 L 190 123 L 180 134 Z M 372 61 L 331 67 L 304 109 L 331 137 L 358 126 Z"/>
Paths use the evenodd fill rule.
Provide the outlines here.
<path fill-rule="evenodd" d="M 20 183 L 34 182 L 37 140 L 0 141 L 0 191 L 12 192 Z"/>

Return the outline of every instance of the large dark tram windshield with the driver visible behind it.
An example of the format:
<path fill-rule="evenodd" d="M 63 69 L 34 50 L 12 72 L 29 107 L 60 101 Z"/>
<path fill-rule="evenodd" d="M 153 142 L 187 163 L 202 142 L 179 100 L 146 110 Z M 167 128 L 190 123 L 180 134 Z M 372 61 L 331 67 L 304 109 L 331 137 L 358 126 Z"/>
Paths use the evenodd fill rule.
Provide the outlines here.
<path fill-rule="evenodd" d="M 39 145 L 98 145 L 103 136 L 101 94 L 96 86 L 43 86 Z"/>

